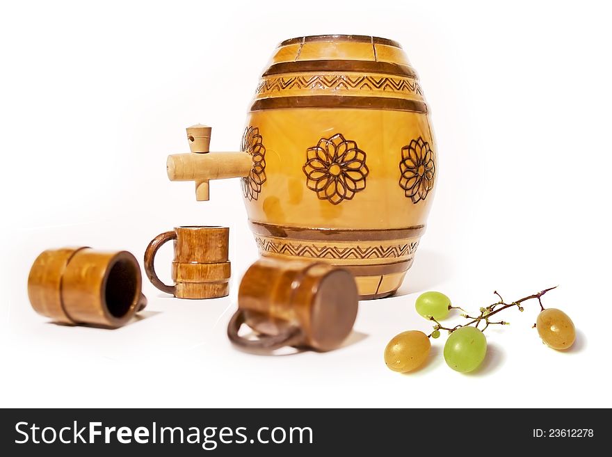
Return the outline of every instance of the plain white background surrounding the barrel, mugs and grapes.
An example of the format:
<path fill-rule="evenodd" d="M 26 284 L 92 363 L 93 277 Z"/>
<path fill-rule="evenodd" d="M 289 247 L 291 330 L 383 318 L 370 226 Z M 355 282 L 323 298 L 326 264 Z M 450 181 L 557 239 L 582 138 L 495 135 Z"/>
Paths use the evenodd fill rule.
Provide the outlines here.
<path fill-rule="evenodd" d="M 12 2 L 0 10 L 0 406 L 612 406 L 609 390 L 612 33 L 604 2 Z M 433 113 L 439 181 L 428 231 L 394 298 L 362 302 L 331 353 L 236 351 L 225 326 L 257 258 L 237 179 L 166 177 L 184 128 L 235 150 L 277 42 L 356 33 L 398 40 Z M 39 252 L 88 245 L 142 259 L 175 225 L 231 227 L 232 293 L 150 305 L 118 330 L 56 326 L 26 279 Z M 170 279 L 171 248 L 157 267 Z M 387 341 L 427 331 L 422 291 L 478 310 L 558 284 L 577 342 L 536 330 L 537 303 L 487 330 L 462 375 L 433 340 L 427 366 L 389 371 Z M 461 318 L 456 317 L 458 321 Z M 581 424 L 574 424 L 580 426 Z"/>

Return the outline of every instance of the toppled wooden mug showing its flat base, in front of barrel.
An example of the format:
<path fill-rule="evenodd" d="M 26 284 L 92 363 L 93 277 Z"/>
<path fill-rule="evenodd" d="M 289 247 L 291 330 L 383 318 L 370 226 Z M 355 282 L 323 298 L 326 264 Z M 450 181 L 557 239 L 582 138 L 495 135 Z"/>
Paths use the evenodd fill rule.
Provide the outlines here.
<path fill-rule="evenodd" d="M 358 299 L 355 278 L 344 268 L 262 257 L 242 278 L 227 336 L 248 351 L 282 346 L 330 351 L 351 333 Z M 243 323 L 257 339 L 239 335 Z"/>

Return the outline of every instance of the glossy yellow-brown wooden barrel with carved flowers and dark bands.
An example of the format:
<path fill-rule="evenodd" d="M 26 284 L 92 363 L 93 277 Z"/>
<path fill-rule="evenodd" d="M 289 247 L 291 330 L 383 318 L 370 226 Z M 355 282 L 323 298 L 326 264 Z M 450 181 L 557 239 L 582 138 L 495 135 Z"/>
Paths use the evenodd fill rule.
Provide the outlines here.
<path fill-rule="evenodd" d="M 242 180 L 261 255 L 343 266 L 362 299 L 393 294 L 433 200 L 437 152 L 401 46 L 362 35 L 280 43 L 242 139 Z"/>

